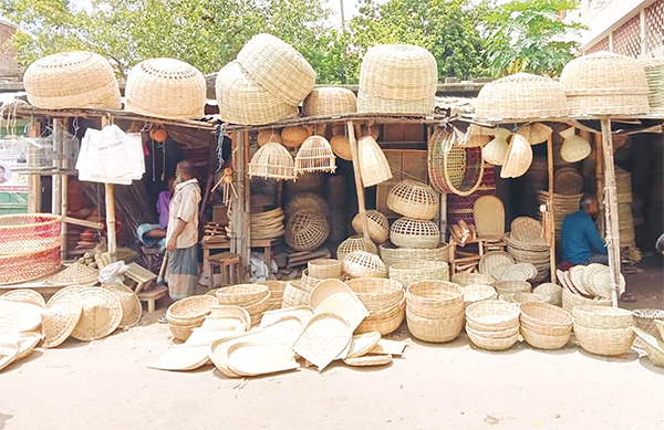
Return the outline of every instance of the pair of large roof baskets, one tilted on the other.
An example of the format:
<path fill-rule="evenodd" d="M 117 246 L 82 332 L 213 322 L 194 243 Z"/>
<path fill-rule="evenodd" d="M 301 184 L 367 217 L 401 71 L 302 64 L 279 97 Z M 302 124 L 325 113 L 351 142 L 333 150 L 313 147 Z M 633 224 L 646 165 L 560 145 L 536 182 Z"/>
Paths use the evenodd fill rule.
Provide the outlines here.
<path fill-rule="evenodd" d="M 271 34 L 258 34 L 217 75 L 219 115 L 249 125 L 295 116 L 314 83 L 302 54 Z"/>

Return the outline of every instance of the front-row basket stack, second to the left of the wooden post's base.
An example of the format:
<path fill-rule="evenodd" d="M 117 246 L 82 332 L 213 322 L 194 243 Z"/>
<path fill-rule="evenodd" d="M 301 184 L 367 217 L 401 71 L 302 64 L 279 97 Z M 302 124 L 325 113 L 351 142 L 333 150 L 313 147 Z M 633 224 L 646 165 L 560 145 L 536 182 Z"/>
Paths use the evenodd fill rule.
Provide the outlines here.
<path fill-rule="evenodd" d="M 539 349 L 560 349 L 572 334 L 572 315 L 548 303 L 523 303 L 521 336 L 528 345 Z"/>

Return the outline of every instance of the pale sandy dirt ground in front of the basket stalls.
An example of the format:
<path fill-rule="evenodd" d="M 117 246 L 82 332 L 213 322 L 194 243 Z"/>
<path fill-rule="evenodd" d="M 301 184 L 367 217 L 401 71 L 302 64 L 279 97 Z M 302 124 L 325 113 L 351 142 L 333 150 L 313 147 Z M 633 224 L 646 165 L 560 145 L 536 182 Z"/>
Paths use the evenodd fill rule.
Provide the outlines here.
<path fill-rule="evenodd" d="M 627 276 L 630 307 L 664 308 L 662 260 Z M 409 338 L 388 367 L 334 364 L 228 379 L 148 369 L 169 345 L 147 315 L 138 327 L 93 343 L 38 349 L 0 374 L 0 429 L 663 429 L 664 368 L 632 349 L 590 355 L 519 344 L 502 353 L 465 334 L 433 345 Z"/>

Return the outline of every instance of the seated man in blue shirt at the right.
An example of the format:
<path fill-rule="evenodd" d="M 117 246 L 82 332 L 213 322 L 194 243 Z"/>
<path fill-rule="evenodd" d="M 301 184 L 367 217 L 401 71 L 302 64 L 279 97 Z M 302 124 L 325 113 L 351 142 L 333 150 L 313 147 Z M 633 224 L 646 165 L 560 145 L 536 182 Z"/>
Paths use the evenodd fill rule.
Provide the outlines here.
<path fill-rule="evenodd" d="M 583 195 L 579 211 L 567 216 L 562 222 L 562 260 L 572 264 L 609 264 L 606 245 L 600 238 L 594 219 L 600 213 L 600 202 Z"/>

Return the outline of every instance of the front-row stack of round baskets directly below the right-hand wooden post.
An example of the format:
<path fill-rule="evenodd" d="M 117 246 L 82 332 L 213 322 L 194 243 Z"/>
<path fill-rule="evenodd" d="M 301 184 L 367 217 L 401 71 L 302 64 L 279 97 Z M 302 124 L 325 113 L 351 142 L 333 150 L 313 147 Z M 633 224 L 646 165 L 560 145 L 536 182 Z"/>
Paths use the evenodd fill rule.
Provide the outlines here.
<path fill-rule="evenodd" d="M 574 306 L 574 335 L 589 353 L 604 356 L 625 354 L 634 343 L 630 311 L 608 306 Z"/>

